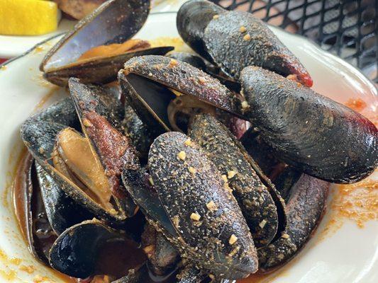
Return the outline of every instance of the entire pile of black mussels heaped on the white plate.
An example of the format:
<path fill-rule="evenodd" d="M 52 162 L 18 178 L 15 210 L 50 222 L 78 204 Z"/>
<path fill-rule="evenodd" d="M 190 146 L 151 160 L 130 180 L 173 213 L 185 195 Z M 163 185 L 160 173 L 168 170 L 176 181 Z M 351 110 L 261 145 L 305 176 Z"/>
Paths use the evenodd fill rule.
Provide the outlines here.
<path fill-rule="evenodd" d="M 21 127 L 38 179 L 26 192 L 30 250 L 71 277 L 125 283 L 273 270 L 308 241 L 328 182 L 354 183 L 377 167 L 377 128 L 312 91 L 299 60 L 250 13 L 187 2 L 177 29 L 196 54 L 185 54 L 130 40 L 149 6 L 107 1 L 43 59 L 45 79 L 70 97 Z M 80 59 L 122 42 L 121 54 Z M 41 213 L 48 237 L 35 232 Z M 145 257 L 121 279 L 99 271 L 117 241 Z"/>

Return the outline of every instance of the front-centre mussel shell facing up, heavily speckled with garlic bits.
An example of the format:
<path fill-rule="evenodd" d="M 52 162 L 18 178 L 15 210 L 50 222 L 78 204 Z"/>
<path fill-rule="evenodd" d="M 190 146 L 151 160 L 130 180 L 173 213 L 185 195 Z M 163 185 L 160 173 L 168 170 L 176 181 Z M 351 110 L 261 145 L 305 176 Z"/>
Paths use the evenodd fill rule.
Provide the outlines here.
<path fill-rule="evenodd" d="M 256 250 L 238 203 L 224 190 L 216 166 L 188 137 L 168 132 L 155 139 L 148 165 L 157 194 L 179 232 L 184 258 L 196 262 L 217 277 L 236 279 L 257 270 Z M 177 158 L 186 152 L 184 160 Z M 188 167 L 196 168 L 196 174 Z M 208 209 L 213 201 L 217 209 Z M 193 221 L 191 215 L 201 218 Z M 197 217 L 196 217 L 197 219 Z M 230 245 L 230 236 L 238 238 Z"/>

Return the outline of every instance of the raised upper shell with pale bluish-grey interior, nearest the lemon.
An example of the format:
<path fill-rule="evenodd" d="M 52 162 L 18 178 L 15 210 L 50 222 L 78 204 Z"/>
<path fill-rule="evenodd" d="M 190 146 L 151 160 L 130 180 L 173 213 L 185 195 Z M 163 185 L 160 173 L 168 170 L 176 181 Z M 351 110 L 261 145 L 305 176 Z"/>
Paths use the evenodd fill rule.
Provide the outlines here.
<path fill-rule="evenodd" d="M 48 72 L 71 64 L 93 47 L 128 40 L 142 28 L 149 11 L 149 0 L 106 1 L 52 47 L 40 70 Z"/>

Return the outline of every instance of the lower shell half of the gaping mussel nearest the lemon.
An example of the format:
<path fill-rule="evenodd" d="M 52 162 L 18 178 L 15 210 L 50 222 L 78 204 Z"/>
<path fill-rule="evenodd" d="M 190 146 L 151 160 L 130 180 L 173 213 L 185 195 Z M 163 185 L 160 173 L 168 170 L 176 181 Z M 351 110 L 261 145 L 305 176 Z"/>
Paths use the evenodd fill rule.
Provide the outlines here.
<path fill-rule="evenodd" d="M 171 50 L 173 50 L 173 47 L 153 47 L 111 57 L 87 59 L 57 69 L 50 69 L 45 71 L 43 76 L 58 86 L 67 85 L 67 81 L 71 77 L 79 78 L 83 83 L 110 83 L 111 81 L 116 81 L 118 71 L 123 68 L 123 64 L 128 59 L 150 54 L 165 55 Z"/>

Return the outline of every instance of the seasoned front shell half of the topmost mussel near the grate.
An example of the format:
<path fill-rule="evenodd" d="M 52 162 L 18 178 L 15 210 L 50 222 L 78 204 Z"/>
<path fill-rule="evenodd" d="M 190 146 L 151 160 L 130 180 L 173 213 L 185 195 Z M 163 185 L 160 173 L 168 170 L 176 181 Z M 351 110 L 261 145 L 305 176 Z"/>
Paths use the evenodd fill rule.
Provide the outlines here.
<path fill-rule="evenodd" d="M 245 28 L 243 33 L 240 33 L 241 26 Z M 235 79 L 245 67 L 255 65 L 284 76 L 297 74 L 306 86 L 312 86 L 310 75 L 294 54 L 265 23 L 250 13 L 221 14 L 217 21 L 207 25 L 204 42 L 216 64 Z"/>

